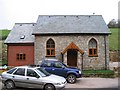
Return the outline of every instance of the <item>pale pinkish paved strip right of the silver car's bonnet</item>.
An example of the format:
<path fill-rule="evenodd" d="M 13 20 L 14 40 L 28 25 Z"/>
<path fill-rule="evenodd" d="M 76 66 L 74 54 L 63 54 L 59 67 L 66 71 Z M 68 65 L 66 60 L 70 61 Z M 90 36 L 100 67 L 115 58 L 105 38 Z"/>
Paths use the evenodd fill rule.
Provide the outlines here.
<path fill-rule="evenodd" d="M 117 88 L 118 78 L 81 78 L 76 84 L 67 84 L 66 88 Z"/>

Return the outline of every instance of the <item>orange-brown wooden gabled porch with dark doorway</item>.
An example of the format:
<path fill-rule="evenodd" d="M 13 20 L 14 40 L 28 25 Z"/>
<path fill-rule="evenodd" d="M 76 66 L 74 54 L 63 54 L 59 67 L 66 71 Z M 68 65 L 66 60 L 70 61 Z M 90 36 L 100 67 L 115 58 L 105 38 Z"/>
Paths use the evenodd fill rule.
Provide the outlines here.
<path fill-rule="evenodd" d="M 67 52 L 67 61 L 64 61 L 64 54 Z M 83 68 L 83 54 L 84 51 L 79 49 L 73 42 L 69 44 L 62 52 L 62 61 L 67 62 L 68 66 L 78 67 L 78 52 L 81 54 L 81 68 Z"/>

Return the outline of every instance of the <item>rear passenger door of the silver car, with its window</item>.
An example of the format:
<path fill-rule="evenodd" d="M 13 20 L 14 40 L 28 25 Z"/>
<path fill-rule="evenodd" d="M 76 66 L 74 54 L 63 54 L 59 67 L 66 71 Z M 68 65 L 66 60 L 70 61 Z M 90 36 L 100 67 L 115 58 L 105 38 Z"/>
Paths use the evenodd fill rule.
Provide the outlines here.
<path fill-rule="evenodd" d="M 24 87 L 26 84 L 25 68 L 18 68 L 12 75 L 16 86 Z"/>

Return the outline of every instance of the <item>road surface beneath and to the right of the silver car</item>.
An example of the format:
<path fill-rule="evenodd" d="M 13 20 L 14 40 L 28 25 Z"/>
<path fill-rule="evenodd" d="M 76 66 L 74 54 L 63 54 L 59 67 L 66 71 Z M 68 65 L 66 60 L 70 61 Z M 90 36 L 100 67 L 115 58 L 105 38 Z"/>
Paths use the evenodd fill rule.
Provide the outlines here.
<path fill-rule="evenodd" d="M 118 78 L 80 78 L 77 80 L 75 84 L 67 83 L 64 90 L 120 90 L 119 84 L 120 82 L 118 82 Z M 6 90 L 1 82 L 0 90 Z M 28 90 L 28 89 L 17 88 L 15 90 Z"/>

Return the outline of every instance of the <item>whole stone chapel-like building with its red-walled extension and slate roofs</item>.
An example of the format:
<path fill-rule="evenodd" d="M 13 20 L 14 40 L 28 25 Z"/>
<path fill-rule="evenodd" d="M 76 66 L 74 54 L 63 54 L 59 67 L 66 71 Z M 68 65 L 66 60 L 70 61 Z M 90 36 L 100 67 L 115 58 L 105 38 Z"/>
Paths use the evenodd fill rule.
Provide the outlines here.
<path fill-rule="evenodd" d="M 44 58 L 57 58 L 81 69 L 107 69 L 109 34 L 101 15 L 40 15 L 36 23 L 15 24 L 5 41 L 8 65 L 38 64 Z M 29 51 L 24 49 L 28 46 Z M 14 59 L 9 47 L 14 50 Z"/>

